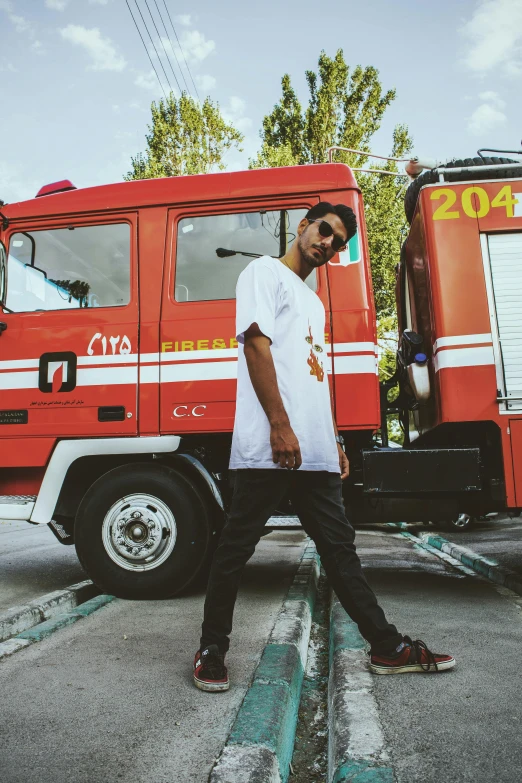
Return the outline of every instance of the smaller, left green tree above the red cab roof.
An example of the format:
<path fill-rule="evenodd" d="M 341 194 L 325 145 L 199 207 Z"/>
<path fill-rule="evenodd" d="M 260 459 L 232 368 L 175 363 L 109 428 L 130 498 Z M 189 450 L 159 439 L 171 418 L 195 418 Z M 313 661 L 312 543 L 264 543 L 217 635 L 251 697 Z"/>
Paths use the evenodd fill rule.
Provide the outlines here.
<path fill-rule="evenodd" d="M 223 170 L 225 154 L 233 147 L 242 151 L 243 134 L 224 120 L 210 98 L 199 104 L 186 93 L 179 99 L 170 93 L 167 100 L 153 102 L 151 112 L 147 150 L 131 158 L 125 180 Z"/>

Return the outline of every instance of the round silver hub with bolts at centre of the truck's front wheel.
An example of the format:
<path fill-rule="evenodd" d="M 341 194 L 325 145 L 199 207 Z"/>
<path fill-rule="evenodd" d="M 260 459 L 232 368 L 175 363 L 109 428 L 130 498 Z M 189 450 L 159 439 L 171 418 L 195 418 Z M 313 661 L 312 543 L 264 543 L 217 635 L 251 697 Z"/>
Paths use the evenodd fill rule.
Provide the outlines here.
<path fill-rule="evenodd" d="M 169 557 L 176 545 L 176 520 L 154 495 L 126 495 L 107 512 L 102 539 L 111 560 L 127 571 L 150 571 Z"/>

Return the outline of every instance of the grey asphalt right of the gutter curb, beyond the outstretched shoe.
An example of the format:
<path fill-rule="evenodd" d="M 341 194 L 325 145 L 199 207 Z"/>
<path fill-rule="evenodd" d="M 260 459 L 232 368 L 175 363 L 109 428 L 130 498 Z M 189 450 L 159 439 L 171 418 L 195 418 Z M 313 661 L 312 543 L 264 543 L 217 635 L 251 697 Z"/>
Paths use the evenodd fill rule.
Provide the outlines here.
<path fill-rule="evenodd" d="M 397 783 L 519 781 L 522 599 L 463 575 L 399 534 L 358 539 L 391 621 L 457 660 L 440 675 L 375 678 Z"/>

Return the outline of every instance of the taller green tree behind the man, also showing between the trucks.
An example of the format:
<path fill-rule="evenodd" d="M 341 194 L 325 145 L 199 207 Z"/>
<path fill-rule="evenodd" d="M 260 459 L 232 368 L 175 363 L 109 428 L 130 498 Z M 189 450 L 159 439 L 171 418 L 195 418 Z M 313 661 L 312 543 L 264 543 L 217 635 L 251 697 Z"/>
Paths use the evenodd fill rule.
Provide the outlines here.
<path fill-rule="evenodd" d="M 373 136 L 395 99 L 395 90 L 383 91 L 376 68 L 358 65 L 350 71 L 341 49 L 334 58 L 321 52 L 317 73 L 307 71 L 306 81 L 309 97 L 303 109 L 290 76 L 283 76 L 281 98 L 263 120 L 261 149 L 250 167 L 322 163 L 331 146 L 361 150 L 360 155 L 336 152 L 335 160 L 366 167 L 368 156 L 364 153 L 371 151 Z M 411 147 L 406 126 L 396 126 L 390 156 L 402 158 Z M 397 171 L 392 161 L 379 168 Z M 377 313 L 379 318 L 387 317 L 395 312 L 395 265 L 406 233 L 405 183 L 385 174 L 357 174 L 357 181 L 366 209 Z"/>

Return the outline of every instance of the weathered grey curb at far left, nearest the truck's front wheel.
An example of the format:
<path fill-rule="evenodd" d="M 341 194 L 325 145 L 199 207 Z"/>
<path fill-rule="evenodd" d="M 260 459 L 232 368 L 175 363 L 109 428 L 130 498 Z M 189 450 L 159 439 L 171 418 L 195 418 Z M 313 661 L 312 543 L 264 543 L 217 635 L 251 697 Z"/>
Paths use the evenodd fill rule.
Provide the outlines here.
<path fill-rule="evenodd" d="M 58 614 L 70 612 L 99 593 L 98 588 L 86 579 L 64 590 L 55 590 L 42 595 L 23 606 L 14 606 L 0 615 L 0 642 L 18 636 L 22 631 L 50 620 Z"/>

